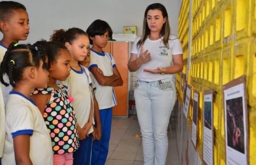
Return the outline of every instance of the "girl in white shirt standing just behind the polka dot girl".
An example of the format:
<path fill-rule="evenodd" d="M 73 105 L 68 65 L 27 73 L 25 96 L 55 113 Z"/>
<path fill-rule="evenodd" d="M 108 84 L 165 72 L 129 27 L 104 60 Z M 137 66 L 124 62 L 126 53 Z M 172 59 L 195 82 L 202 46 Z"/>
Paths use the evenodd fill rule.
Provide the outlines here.
<path fill-rule="evenodd" d="M 50 41 L 59 42 L 66 46 L 71 55 L 70 76 L 63 81 L 68 88 L 68 94 L 74 98 L 73 106 L 79 133 L 79 149 L 74 152 L 74 165 L 90 165 L 93 142 L 93 103 L 90 94 L 92 81 L 90 72 L 79 64 L 86 58 L 89 38 L 86 32 L 79 28 L 67 30 L 58 29 L 51 35 Z"/>

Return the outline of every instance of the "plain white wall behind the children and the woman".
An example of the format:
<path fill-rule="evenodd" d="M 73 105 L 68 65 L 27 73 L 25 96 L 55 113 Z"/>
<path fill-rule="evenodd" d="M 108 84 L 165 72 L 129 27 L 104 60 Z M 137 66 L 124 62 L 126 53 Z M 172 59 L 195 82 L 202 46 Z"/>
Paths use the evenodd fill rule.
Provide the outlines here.
<path fill-rule="evenodd" d="M 169 15 L 172 34 L 177 35 L 178 14 L 182 0 L 159 0 Z M 114 33 L 122 33 L 123 26 L 137 26 L 142 33 L 143 14 L 155 0 L 17 0 L 26 6 L 30 33 L 27 41 L 49 40 L 54 29 L 79 27 L 86 31 L 93 20 L 107 21 Z M 2 38 L 2 34 L 0 35 Z M 22 42 L 23 43 L 23 42 Z"/>

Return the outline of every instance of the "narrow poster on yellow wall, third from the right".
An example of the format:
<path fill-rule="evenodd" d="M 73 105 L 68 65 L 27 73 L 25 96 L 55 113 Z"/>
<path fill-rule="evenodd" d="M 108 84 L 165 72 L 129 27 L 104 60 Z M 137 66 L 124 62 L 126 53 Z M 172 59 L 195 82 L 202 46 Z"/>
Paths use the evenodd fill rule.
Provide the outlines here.
<path fill-rule="evenodd" d="M 195 148 L 196 148 L 196 138 L 197 138 L 198 98 L 199 98 L 199 92 L 198 90 L 194 90 L 191 139 Z"/>

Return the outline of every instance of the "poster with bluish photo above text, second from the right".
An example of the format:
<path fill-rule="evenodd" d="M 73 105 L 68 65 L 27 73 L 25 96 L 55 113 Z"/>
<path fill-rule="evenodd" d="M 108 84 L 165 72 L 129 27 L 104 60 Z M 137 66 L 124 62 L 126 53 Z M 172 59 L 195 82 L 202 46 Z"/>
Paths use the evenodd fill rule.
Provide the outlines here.
<path fill-rule="evenodd" d="M 204 91 L 204 137 L 203 137 L 203 160 L 204 164 L 214 164 L 213 152 L 213 91 Z"/>

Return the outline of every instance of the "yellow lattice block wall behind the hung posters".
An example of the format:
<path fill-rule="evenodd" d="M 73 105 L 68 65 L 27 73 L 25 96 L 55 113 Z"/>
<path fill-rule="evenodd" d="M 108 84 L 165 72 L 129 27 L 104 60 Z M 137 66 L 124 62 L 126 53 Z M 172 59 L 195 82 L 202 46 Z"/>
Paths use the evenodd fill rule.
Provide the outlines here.
<path fill-rule="evenodd" d="M 183 0 L 179 15 L 179 32 L 183 45 L 183 74 L 188 84 L 200 92 L 197 152 L 203 153 L 203 91 L 214 95 L 214 162 L 225 164 L 224 109 L 222 86 L 246 75 L 249 130 L 249 162 L 256 165 L 256 0 L 193 0 L 189 18 L 189 0 Z M 188 64 L 189 19 L 191 57 Z M 182 100 L 183 79 L 177 74 L 176 87 Z M 183 82 L 181 83 L 183 84 Z M 193 93 L 192 95 L 193 96 Z M 193 98 L 191 98 L 193 99 Z M 192 102 L 191 102 L 192 103 Z M 192 104 L 187 124 L 191 131 Z"/>

